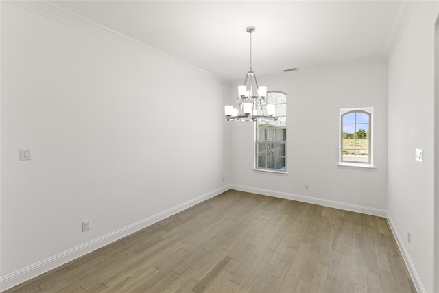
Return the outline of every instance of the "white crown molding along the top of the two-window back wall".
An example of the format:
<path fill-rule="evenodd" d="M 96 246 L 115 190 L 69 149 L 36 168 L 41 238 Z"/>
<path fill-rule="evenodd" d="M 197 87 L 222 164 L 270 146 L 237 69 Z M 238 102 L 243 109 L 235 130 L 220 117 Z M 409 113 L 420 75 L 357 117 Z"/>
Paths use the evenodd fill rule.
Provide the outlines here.
<path fill-rule="evenodd" d="M 274 73 L 271 75 L 259 76 L 258 80 L 261 82 L 274 82 L 276 80 L 289 80 L 292 78 L 301 78 L 310 75 L 319 75 L 324 73 L 331 73 L 335 71 L 343 71 L 349 69 L 357 69 L 361 67 L 370 67 L 375 65 L 385 65 L 388 60 L 384 56 L 370 56 L 354 60 L 346 60 L 342 62 L 335 62 L 328 65 L 318 67 L 309 67 L 298 69 L 296 71 Z"/>

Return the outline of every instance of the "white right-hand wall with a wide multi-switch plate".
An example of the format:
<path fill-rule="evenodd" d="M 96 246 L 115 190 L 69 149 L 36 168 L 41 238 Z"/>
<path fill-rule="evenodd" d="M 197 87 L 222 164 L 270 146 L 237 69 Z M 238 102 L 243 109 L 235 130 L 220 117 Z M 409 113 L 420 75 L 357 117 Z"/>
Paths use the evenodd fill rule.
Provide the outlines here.
<path fill-rule="evenodd" d="M 434 288 L 434 24 L 437 1 L 419 1 L 388 65 L 388 216 L 414 281 Z M 437 77 L 436 77 L 437 78 Z M 424 163 L 414 159 L 424 150 Z M 407 231 L 412 243 L 407 242 Z M 438 247 L 436 246 L 436 250 Z"/>

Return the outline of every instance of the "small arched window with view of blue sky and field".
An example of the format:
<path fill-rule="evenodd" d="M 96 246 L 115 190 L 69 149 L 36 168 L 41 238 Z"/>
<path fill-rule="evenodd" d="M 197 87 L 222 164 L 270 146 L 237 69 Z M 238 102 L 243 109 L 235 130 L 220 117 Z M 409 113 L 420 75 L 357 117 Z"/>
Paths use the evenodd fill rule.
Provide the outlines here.
<path fill-rule="evenodd" d="M 372 165 L 372 108 L 340 110 L 340 163 Z"/>

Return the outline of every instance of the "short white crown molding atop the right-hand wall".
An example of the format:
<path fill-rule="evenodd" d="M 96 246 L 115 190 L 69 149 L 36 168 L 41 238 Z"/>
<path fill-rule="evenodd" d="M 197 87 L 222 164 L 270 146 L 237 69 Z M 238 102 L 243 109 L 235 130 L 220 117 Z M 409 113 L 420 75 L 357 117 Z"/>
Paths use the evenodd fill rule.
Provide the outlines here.
<path fill-rule="evenodd" d="M 388 39 L 387 45 L 385 45 L 383 55 L 390 60 L 396 45 L 398 45 L 401 36 L 403 36 L 403 32 L 405 27 L 410 21 L 412 17 L 414 8 L 418 4 L 418 0 L 410 0 L 410 1 L 401 1 L 401 5 L 399 6 L 398 15 L 396 16 L 396 21 L 392 28 L 392 33 Z"/>

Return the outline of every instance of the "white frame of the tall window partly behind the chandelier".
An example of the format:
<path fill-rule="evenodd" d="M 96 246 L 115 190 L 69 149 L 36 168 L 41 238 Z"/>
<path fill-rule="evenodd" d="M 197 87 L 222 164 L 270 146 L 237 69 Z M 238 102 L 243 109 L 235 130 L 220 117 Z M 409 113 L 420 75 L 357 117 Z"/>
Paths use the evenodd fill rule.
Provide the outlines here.
<path fill-rule="evenodd" d="M 276 115 L 278 114 L 277 113 L 277 105 L 278 104 L 285 104 L 285 115 L 281 116 L 281 117 L 285 117 L 285 140 L 283 140 L 283 141 L 266 141 L 266 140 L 259 141 L 258 140 L 259 139 L 259 133 L 258 133 L 259 132 L 259 122 L 256 122 L 254 124 L 254 170 L 255 171 L 262 171 L 262 172 L 278 173 L 278 174 L 288 174 L 288 172 L 287 172 L 287 108 L 286 108 L 287 107 L 286 106 L 287 105 L 287 101 L 286 101 L 287 94 L 284 93 L 283 91 L 276 91 L 276 90 L 267 91 L 267 99 L 266 99 L 266 102 L 263 106 L 268 104 L 268 95 L 270 93 L 280 93 L 280 94 L 285 95 L 285 103 L 278 103 L 278 97 L 276 97 L 276 103 L 275 103 Z M 270 104 L 273 104 L 273 103 L 270 103 Z M 276 124 L 277 123 L 278 122 L 276 121 Z M 267 125 L 270 126 L 270 124 L 267 124 Z M 268 168 L 268 167 L 258 167 L 258 164 L 259 164 L 258 145 L 261 145 L 261 144 L 268 145 L 270 143 L 285 145 L 285 156 L 277 156 L 277 155 L 275 156 L 275 157 L 284 157 L 285 158 L 285 169 L 272 169 L 272 168 Z"/>

